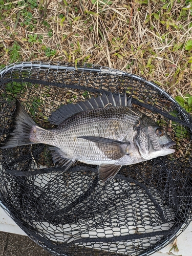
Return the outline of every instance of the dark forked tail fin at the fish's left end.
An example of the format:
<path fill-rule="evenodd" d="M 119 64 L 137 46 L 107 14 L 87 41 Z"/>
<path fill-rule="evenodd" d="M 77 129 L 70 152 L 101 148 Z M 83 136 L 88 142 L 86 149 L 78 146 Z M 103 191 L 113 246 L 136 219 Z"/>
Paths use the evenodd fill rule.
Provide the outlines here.
<path fill-rule="evenodd" d="M 28 115 L 23 106 L 16 100 L 16 110 L 14 113 L 14 130 L 8 136 L 8 141 L 1 148 L 34 144 L 30 140 L 30 133 L 36 123 Z"/>

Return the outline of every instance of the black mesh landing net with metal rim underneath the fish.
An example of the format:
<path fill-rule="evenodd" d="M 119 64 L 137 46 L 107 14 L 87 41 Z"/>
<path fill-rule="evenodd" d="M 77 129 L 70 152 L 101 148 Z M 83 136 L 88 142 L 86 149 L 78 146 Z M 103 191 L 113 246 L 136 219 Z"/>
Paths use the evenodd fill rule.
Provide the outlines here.
<path fill-rule="evenodd" d="M 103 92 L 132 95 L 134 108 L 177 142 L 172 155 L 122 166 L 98 180 L 98 167 L 55 167 L 49 146 L 0 149 L 0 199 L 28 236 L 53 255 L 150 255 L 191 220 L 190 115 L 154 83 L 129 73 L 71 63 L 24 62 L 1 71 L 0 139 L 13 126 L 15 98 L 42 127 L 62 104 Z"/>

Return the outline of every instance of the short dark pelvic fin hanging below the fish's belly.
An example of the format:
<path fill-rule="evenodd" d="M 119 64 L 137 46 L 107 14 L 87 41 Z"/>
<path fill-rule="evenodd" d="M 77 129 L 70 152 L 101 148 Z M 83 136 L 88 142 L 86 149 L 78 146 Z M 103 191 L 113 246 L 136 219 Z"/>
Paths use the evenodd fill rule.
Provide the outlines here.
<path fill-rule="evenodd" d="M 100 164 L 99 165 L 99 179 L 102 182 L 112 180 L 118 173 L 122 165 L 115 164 Z"/>

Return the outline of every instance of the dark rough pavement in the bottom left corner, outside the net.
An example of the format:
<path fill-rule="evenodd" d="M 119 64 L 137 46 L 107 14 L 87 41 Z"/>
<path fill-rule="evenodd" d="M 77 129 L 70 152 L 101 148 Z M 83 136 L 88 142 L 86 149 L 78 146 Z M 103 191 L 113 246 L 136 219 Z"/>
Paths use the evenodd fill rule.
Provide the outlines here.
<path fill-rule="evenodd" d="M 0 256 L 51 256 L 27 236 L 0 232 Z"/>

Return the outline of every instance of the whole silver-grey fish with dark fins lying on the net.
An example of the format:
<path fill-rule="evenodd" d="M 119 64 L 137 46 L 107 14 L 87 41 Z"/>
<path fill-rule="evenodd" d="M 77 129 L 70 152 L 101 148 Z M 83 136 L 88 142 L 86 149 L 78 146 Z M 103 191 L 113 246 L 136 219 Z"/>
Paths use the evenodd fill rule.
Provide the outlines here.
<path fill-rule="evenodd" d="M 1 148 L 44 143 L 53 163 L 69 169 L 77 161 L 98 165 L 99 179 L 112 180 L 123 165 L 173 154 L 175 145 L 163 127 L 132 105 L 132 97 L 103 93 L 67 104 L 48 119 L 57 125 L 36 124 L 16 100 L 14 130 Z"/>

